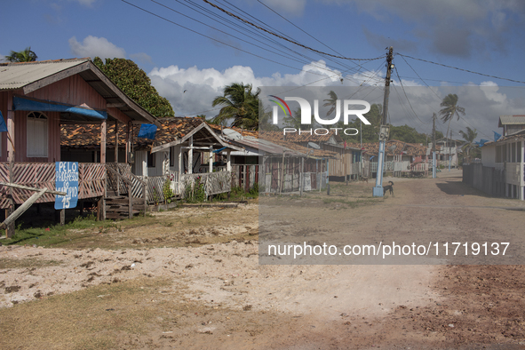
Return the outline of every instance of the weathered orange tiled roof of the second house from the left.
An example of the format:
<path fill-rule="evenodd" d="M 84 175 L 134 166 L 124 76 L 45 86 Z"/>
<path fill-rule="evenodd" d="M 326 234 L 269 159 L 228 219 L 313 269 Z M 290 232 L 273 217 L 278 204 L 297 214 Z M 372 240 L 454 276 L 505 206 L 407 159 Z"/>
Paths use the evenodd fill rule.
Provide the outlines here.
<path fill-rule="evenodd" d="M 158 146 L 169 143 L 176 139 L 181 139 L 187 133 L 195 130 L 196 127 L 203 123 L 200 118 L 164 118 L 160 120 L 161 126 L 155 134 L 155 141 L 151 139 L 137 138 L 139 125 L 133 130 L 135 148 L 144 148 Z M 63 124 L 60 126 L 60 146 L 72 148 L 98 148 L 100 144 L 100 124 Z M 126 126 L 119 124 L 118 143 L 125 145 Z M 115 124 L 107 123 L 106 143 L 108 148 L 115 147 Z"/>

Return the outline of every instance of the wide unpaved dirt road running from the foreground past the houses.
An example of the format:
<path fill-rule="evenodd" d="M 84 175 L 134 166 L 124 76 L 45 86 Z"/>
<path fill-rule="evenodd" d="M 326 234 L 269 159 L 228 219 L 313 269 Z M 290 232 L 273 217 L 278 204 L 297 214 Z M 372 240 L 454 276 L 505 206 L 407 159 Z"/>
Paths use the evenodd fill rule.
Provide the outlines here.
<path fill-rule="evenodd" d="M 521 242 L 525 212 L 501 208 L 524 203 L 486 197 L 459 175 L 393 179 L 395 196 L 379 201 L 371 183 L 282 200 L 298 211 L 301 201 L 315 203 L 355 242 L 408 242 L 412 231 L 450 242 L 509 232 Z M 127 249 L 0 247 L 0 347 L 525 348 L 522 266 L 259 265 L 257 231 L 266 227 L 258 209 L 163 212 L 158 226 L 105 234 Z M 222 221 L 191 230 L 165 224 L 195 214 Z M 290 239 L 334 238 L 311 222 L 310 232 L 280 227 Z M 163 248 L 174 235 L 187 246 Z M 520 254 L 505 259 L 516 264 Z"/>

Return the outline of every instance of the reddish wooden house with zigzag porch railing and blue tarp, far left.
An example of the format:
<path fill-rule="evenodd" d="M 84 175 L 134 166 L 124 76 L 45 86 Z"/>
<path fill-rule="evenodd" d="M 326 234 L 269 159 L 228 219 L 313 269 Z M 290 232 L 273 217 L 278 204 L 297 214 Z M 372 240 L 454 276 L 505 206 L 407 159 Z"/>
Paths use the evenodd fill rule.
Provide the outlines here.
<path fill-rule="evenodd" d="M 55 162 L 62 160 L 60 125 L 99 125 L 99 163 L 79 159 L 79 199 L 105 195 L 108 125 L 125 129 L 123 158 L 128 161 L 132 128 L 158 123 L 89 59 L 1 63 L 0 110 L 8 129 L 0 134 L 0 181 L 28 187 L 54 189 Z M 13 208 L 29 195 L 2 187 L 0 207 Z M 49 194 L 38 200 L 54 201 Z"/>

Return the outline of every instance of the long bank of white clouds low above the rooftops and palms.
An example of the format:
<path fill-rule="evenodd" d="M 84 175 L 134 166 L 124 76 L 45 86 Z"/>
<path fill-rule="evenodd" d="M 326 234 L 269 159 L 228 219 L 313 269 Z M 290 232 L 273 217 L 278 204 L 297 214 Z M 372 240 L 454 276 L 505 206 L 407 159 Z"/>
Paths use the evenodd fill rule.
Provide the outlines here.
<path fill-rule="evenodd" d="M 320 76 L 321 75 L 321 76 Z M 255 76 L 250 67 L 234 66 L 224 71 L 214 68 L 199 69 L 154 68 L 150 73 L 152 84 L 161 96 L 170 100 L 176 115 L 204 114 L 212 117 L 219 113 L 219 108 L 211 107 L 211 101 L 222 95 L 223 87 L 232 83 L 252 84 L 257 87 L 292 87 L 284 91 L 292 91 L 298 86 L 321 86 L 323 91 L 337 91 L 340 99 L 346 99 L 346 93 L 353 99 L 365 99 L 370 103 L 383 103 L 383 73 L 378 76 L 364 71 L 351 76 L 343 76 L 340 82 L 340 72 L 327 68 L 324 61 L 312 62 L 304 66 L 298 74 L 272 76 Z M 324 78 L 324 79 L 323 79 Z M 314 84 L 311 84 L 313 83 Z M 417 81 L 402 80 L 404 91 L 398 81 L 394 80 L 390 92 L 389 115 L 394 125 L 410 125 L 419 132 L 432 131 L 432 115 L 441 109 L 441 99 L 449 93 L 457 93 L 458 105 L 465 107 L 466 115 L 459 121 L 454 118 L 450 129 L 455 137 L 459 130 L 466 126 L 477 129 L 478 139 L 488 139 L 492 131 L 498 131 L 497 118 L 499 115 L 523 114 L 525 110 L 525 88 L 510 89 L 497 86 L 491 81 L 472 86 L 421 86 Z M 360 94 L 353 95 L 356 86 Z M 352 88 L 351 88 L 352 87 Z M 432 89 L 432 90 L 431 90 Z M 278 90 L 278 89 L 277 89 Z M 186 92 L 185 92 L 186 91 Z M 406 93 L 406 96 L 405 96 Z M 410 99 L 410 105 L 407 102 Z M 418 115 L 414 115 L 414 112 Z M 447 131 L 447 124 L 436 123 L 438 130 Z"/>

